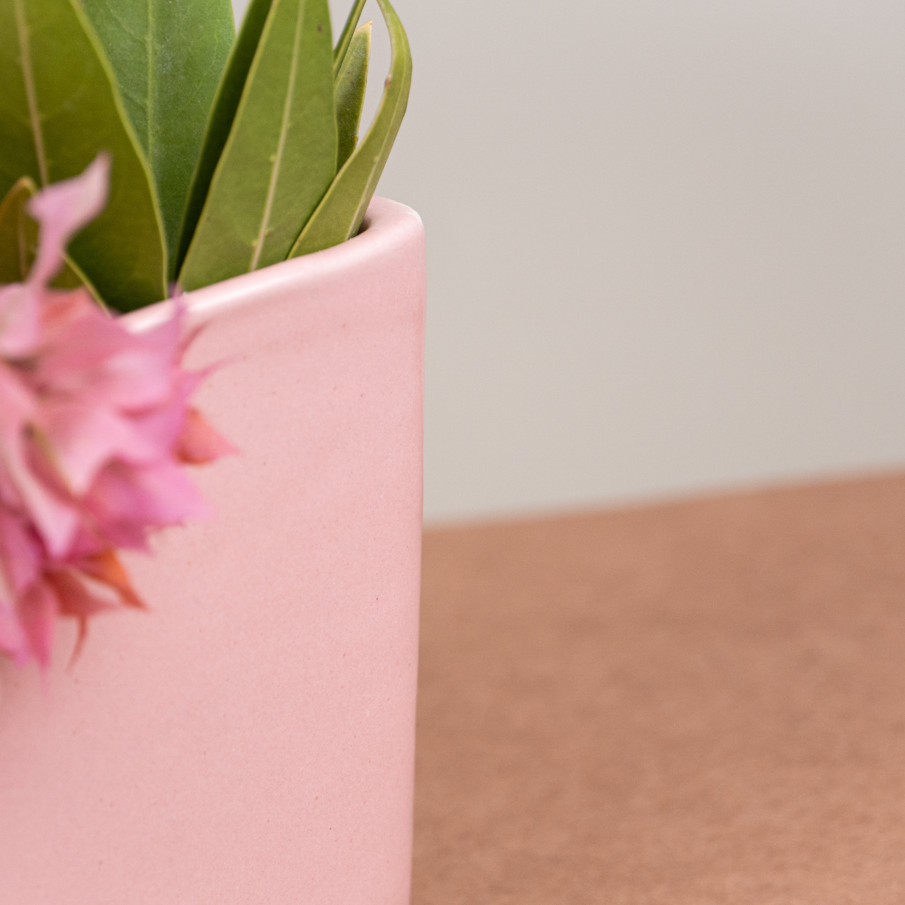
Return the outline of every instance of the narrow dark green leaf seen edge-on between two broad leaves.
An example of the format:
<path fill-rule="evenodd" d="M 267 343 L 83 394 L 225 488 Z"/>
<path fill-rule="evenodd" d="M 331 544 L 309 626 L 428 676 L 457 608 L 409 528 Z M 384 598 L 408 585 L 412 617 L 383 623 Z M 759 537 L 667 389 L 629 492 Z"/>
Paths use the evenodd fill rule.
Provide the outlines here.
<path fill-rule="evenodd" d="M 214 178 L 214 170 L 217 161 L 223 153 L 226 139 L 230 129 L 233 128 L 235 111 L 242 100 L 242 91 L 248 71 L 252 66 L 254 53 L 258 49 L 264 24 L 267 22 L 267 14 L 271 10 L 271 0 L 252 0 L 242 21 L 239 36 L 233 43 L 233 50 L 220 77 L 214 103 L 205 126 L 205 140 L 195 164 L 195 172 L 192 175 L 192 183 L 188 192 L 188 204 L 183 218 L 182 228 L 179 233 L 179 243 L 176 250 L 176 258 L 172 263 L 171 272 L 176 274 L 186 259 L 188 246 L 195 234 L 195 227 L 205 206 L 207 192 L 211 187 L 211 179 Z"/>

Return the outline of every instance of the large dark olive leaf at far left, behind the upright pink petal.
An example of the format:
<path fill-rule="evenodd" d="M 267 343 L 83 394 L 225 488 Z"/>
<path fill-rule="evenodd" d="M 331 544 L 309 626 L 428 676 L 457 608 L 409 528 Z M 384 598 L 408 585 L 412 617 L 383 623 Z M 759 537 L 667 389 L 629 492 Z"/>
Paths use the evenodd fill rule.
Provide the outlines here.
<path fill-rule="evenodd" d="M 0 195 L 78 176 L 108 150 L 110 201 L 72 258 L 120 310 L 167 296 L 167 247 L 153 177 L 110 63 L 75 0 L 0 0 Z"/>

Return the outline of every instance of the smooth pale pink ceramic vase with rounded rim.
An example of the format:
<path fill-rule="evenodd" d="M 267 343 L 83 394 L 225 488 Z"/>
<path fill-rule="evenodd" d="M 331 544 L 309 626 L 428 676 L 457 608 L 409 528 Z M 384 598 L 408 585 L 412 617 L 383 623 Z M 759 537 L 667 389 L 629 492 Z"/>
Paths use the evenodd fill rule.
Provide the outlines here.
<path fill-rule="evenodd" d="M 0 901 L 408 901 L 424 231 L 366 224 L 186 297 L 243 452 L 195 471 L 213 520 L 129 558 L 150 613 L 94 620 L 70 672 L 65 625 L 46 691 L 0 664 Z"/>

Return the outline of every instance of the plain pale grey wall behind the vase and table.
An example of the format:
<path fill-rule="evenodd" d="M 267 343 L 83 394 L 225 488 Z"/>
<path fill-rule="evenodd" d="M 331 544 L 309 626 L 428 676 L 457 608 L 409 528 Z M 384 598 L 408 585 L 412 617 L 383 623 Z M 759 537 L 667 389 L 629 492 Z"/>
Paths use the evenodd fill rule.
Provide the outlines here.
<path fill-rule="evenodd" d="M 905 463 L 905 5 L 396 9 L 427 519 Z"/>

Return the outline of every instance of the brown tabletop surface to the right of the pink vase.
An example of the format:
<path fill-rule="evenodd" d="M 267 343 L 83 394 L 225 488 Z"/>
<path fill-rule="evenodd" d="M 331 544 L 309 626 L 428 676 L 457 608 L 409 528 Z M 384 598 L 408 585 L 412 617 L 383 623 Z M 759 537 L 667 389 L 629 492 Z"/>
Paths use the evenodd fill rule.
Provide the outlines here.
<path fill-rule="evenodd" d="M 413 905 L 905 903 L 905 477 L 424 538 Z"/>

